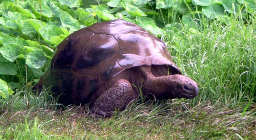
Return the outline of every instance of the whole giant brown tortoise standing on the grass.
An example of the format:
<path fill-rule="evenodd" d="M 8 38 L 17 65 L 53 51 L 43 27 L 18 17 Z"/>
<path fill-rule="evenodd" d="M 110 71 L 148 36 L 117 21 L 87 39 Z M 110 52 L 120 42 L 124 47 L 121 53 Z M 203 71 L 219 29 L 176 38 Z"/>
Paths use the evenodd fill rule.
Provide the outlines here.
<path fill-rule="evenodd" d="M 134 84 L 134 86 L 132 86 Z M 95 23 L 65 38 L 33 90 L 51 87 L 59 102 L 91 103 L 100 116 L 143 96 L 156 99 L 198 95 L 198 84 L 182 75 L 162 40 L 124 20 Z"/>

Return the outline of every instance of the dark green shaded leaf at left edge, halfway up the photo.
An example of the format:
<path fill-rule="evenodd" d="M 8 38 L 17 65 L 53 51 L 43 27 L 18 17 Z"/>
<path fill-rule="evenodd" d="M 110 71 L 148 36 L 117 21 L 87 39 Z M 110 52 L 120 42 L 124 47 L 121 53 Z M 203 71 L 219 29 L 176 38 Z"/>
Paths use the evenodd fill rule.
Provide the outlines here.
<path fill-rule="evenodd" d="M 12 62 L 2 62 L 0 61 L 0 74 L 4 75 L 16 75 L 17 66 Z"/>

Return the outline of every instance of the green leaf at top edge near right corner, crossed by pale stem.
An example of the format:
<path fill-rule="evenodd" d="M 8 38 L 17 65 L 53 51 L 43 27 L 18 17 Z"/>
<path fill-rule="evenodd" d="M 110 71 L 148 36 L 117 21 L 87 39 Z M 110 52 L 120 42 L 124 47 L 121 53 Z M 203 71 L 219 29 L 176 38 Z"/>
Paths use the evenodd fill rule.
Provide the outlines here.
<path fill-rule="evenodd" d="M 229 13 L 238 14 L 240 10 L 239 3 L 236 0 L 222 0 L 222 5 Z"/>

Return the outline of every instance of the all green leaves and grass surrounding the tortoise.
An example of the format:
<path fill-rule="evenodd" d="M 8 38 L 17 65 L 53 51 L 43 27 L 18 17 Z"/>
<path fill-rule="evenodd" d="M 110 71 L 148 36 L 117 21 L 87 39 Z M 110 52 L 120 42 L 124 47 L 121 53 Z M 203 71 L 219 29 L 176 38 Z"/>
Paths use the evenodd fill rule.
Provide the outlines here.
<path fill-rule="evenodd" d="M 254 0 L 0 0 L 0 140 L 256 139 L 255 11 Z M 166 42 L 199 96 L 97 120 L 31 93 L 66 36 L 117 18 Z"/>

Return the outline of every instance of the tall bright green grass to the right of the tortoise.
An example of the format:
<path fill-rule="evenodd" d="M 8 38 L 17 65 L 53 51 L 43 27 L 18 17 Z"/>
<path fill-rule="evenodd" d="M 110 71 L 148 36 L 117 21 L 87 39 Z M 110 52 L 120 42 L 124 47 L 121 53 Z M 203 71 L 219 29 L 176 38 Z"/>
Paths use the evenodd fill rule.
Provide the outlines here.
<path fill-rule="evenodd" d="M 255 15 L 255 14 L 254 14 Z M 200 32 L 166 38 L 174 61 L 200 84 L 198 102 L 239 103 L 256 96 L 256 18 L 202 21 Z M 255 100 L 254 100 L 255 101 Z"/>

